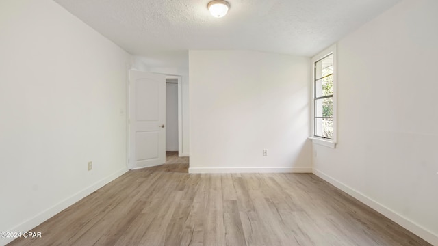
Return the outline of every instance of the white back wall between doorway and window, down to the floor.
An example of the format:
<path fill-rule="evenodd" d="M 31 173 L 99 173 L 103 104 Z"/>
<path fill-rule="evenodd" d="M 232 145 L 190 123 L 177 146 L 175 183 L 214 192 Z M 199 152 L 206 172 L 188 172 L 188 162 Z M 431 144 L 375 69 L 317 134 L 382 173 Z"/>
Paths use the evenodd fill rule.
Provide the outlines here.
<path fill-rule="evenodd" d="M 189 171 L 311 171 L 309 63 L 274 53 L 189 51 Z"/>

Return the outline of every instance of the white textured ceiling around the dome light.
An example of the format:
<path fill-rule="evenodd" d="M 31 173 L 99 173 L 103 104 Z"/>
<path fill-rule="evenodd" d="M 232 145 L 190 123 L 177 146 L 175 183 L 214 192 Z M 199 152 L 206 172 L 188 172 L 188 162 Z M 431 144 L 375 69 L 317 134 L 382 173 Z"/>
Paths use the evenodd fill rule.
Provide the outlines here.
<path fill-rule="evenodd" d="M 311 56 L 400 0 L 55 0 L 133 55 L 184 57 L 190 49 Z"/>

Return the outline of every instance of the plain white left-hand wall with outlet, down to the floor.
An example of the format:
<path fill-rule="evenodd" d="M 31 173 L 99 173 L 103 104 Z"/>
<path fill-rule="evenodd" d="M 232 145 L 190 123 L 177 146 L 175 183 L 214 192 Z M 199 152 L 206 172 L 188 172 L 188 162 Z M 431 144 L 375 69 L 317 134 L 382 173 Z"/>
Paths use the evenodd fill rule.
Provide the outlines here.
<path fill-rule="evenodd" d="M 0 54 L 0 231 L 25 232 L 126 172 L 129 54 L 50 0 L 0 1 Z"/>

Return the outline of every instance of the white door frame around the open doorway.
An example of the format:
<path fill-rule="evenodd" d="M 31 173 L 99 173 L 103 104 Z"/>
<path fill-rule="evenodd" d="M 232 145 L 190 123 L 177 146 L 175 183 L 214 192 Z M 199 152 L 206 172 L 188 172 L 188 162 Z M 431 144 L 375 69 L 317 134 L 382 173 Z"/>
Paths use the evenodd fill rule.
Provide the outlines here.
<path fill-rule="evenodd" d="M 130 148 L 129 145 L 130 141 L 130 132 L 131 132 L 131 122 L 130 122 L 130 115 L 129 115 L 129 101 L 130 101 L 130 95 L 131 95 L 131 86 L 129 81 L 129 71 L 131 69 L 127 69 L 127 82 L 126 82 L 126 109 L 125 109 L 125 115 L 126 115 L 126 153 L 127 153 L 127 159 L 126 159 L 126 167 L 127 169 L 132 169 L 129 167 L 129 161 L 131 156 L 129 156 Z M 156 74 L 164 74 L 161 72 L 153 72 Z M 164 74 L 166 75 L 166 79 L 177 79 L 178 81 L 178 155 L 181 156 L 183 154 L 183 85 L 182 85 L 182 77 L 180 75 L 171 75 L 171 74 Z"/>

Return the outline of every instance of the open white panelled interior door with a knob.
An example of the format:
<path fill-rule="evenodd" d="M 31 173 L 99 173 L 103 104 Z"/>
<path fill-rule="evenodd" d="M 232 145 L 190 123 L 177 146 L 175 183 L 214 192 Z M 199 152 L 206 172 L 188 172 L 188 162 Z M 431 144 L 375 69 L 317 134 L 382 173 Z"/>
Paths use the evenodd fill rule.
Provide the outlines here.
<path fill-rule="evenodd" d="M 129 169 L 166 162 L 166 76 L 129 71 Z"/>

